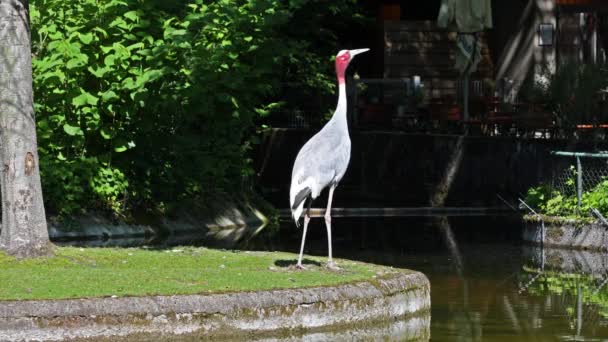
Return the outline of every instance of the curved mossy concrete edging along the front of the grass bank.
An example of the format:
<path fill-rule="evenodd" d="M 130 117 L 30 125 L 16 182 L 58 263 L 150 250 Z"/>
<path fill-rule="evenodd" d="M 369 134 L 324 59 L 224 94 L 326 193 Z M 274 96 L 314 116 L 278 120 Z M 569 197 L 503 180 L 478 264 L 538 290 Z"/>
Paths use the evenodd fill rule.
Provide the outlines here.
<path fill-rule="evenodd" d="M 0 301 L 0 341 L 132 334 L 272 334 L 428 316 L 430 284 L 402 271 L 332 287 L 180 296 Z M 428 322 L 426 319 L 416 322 Z M 422 335 L 430 327 L 420 327 Z M 424 338 L 424 336 L 421 336 Z M 428 336 L 426 336 L 428 338 Z"/>

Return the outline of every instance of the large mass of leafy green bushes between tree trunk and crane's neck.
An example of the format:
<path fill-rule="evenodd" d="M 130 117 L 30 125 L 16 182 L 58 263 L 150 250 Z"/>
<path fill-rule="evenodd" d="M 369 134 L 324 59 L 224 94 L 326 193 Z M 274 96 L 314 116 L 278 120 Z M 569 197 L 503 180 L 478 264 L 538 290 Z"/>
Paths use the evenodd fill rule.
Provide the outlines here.
<path fill-rule="evenodd" d="M 49 211 L 170 209 L 242 190 L 264 118 L 331 94 L 336 18 L 354 5 L 32 0 Z"/>

